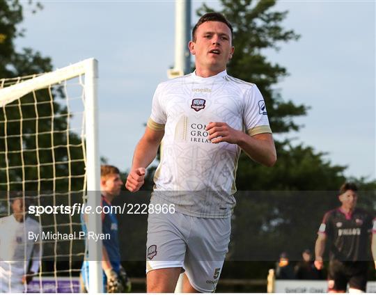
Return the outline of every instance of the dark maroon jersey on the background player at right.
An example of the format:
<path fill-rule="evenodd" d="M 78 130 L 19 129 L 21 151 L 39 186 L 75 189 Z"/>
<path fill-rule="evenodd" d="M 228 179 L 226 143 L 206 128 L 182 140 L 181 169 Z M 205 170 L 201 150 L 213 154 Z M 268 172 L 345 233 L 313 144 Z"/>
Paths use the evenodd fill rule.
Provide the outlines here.
<path fill-rule="evenodd" d="M 375 219 L 376 220 L 376 219 Z M 346 214 L 341 208 L 324 215 L 319 232 L 327 234 L 330 243 L 330 260 L 366 261 L 370 248 L 370 233 L 376 221 L 363 209 Z"/>

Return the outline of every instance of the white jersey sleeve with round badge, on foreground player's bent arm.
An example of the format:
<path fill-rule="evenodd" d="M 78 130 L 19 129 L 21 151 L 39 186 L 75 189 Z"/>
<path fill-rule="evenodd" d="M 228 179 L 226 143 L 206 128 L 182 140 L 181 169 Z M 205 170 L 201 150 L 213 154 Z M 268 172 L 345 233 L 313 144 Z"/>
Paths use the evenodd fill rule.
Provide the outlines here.
<path fill-rule="evenodd" d="M 272 133 L 272 129 L 269 127 L 269 119 L 267 118 L 265 101 L 256 85 L 253 85 L 249 89 L 249 94 L 246 95 L 244 125 L 246 132 L 250 136 Z"/>

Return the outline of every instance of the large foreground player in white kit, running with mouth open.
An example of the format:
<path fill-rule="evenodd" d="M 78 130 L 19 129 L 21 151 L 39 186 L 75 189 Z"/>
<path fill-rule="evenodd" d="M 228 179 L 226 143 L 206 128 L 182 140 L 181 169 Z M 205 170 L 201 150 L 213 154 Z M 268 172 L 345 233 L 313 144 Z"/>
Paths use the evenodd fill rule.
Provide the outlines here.
<path fill-rule="evenodd" d="M 228 252 L 240 152 L 266 166 L 276 161 L 263 96 L 226 72 L 232 41 L 233 28 L 220 13 L 198 20 L 189 42 L 196 70 L 159 84 L 134 151 L 125 185 L 132 192 L 143 185 L 163 138 L 150 206 L 174 208 L 148 216 L 148 292 L 173 292 L 182 271 L 183 292 L 214 291 Z"/>

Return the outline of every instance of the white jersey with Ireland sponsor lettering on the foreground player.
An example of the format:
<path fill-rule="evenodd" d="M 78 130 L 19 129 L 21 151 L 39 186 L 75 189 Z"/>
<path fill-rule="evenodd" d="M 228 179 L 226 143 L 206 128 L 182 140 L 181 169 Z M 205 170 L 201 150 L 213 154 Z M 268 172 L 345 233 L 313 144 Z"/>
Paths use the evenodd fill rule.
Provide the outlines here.
<path fill-rule="evenodd" d="M 148 127 L 165 133 L 152 202 L 173 203 L 176 211 L 196 217 L 230 216 L 240 148 L 209 141 L 210 122 L 226 122 L 250 136 L 272 133 L 260 90 L 226 70 L 208 78 L 191 73 L 157 86 Z"/>

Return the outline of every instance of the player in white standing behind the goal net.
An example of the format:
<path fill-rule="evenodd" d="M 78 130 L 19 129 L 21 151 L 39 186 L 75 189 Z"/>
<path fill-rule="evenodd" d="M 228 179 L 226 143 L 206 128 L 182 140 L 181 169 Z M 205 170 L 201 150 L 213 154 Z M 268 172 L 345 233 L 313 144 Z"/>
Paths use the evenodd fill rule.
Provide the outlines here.
<path fill-rule="evenodd" d="M 26 292 L 42 254 L 40 224 L 26 215 L 22 193 L 11 198 L 13 214 L 0 218 L 0 293 Z"/>

